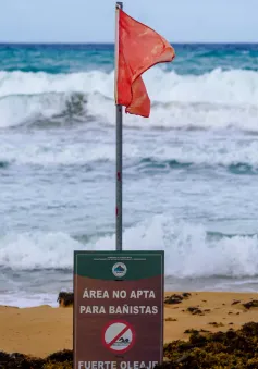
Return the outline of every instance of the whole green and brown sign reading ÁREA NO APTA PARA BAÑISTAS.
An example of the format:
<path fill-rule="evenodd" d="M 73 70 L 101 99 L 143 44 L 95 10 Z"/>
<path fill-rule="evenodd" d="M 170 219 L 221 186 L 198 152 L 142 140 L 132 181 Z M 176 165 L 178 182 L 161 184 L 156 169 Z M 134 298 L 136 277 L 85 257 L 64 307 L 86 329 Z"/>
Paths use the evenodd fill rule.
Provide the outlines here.
<path fill-rule="evenodd" d="M 74 251 L 74 368 L 163 359 L 163 251 Z"/>

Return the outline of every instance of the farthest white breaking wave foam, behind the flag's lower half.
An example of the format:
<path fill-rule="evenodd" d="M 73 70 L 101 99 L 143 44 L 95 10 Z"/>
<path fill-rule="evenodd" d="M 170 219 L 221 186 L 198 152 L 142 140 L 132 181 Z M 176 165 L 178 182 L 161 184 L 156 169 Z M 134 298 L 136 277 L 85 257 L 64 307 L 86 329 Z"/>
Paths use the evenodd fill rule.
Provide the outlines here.
<path fill-rule="evenodd" d="M 217 69 L 179 75 L 155 67 L 144 79 L 153 102 L 150 119 L 127 114 L 125 125 L 258 130 L 257 72 Z M 74 93 L 85 95 L 87 103 L 81 104 L 87 114 L 114 124 L 113 73 L 0 72 L 0 127 L 63 114 Z"/>

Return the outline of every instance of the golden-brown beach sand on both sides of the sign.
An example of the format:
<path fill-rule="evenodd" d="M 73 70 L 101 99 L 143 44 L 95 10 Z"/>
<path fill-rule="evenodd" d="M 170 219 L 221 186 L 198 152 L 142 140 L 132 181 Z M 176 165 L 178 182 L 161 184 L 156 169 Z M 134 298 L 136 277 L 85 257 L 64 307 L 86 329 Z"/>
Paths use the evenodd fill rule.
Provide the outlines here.
<path fill-rule="evenodd" d="M 172 292 L 165 293 L 171 295 Z M 176 294 L 180 294 L 176 292 Z M 187 340 L 186 329 L 226 331 L 244 323 L 258 322 L 258 308 L 246 309 L 243 303 L 258 299 L 258 294 L 192 292 L 181 304 L 164 307 L 164 342 Z M 232 305 L 233 302 L 239 302 Z M 188 307 L 198 307 L 193 315 Z M 212 324 L 210 324 L 212 323 Z M 0 350 L 37 357 L 72 349 L 73 308 L 13 308 L 0 306 Z"/>

